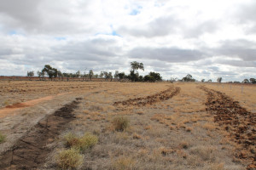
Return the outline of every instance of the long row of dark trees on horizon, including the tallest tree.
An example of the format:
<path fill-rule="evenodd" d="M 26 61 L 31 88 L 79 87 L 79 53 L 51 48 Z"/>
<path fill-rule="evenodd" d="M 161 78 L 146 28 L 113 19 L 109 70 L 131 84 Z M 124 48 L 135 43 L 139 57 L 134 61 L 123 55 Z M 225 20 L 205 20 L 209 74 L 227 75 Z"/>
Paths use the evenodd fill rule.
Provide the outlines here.
<path fill-rule="evenodd" d="M 38 71 L 38 77 L 39 80 L 45 80 L 46 77 L 48 77 L 51 81 L 53 78 L 59 78 L 59 80 L 64 80 L 64 78 L 69 81 L 70 77 L 73 78 L 82 78 L 83 81 L 92 80 L 93 78 L 104 78 L 106 81 L 113 81 L 114 80 L 129 80 L 131 82 L 160 82 L 162 81 L 162 77 L 160 76 L 160 73 L 158 72 L 149 72 L 148 75 L 145 77 L 140 76 L 138 73 L 138 70 L 144 71 L 144 65 L 143 63 L 139 63 L 137 61 L 131 62 L 131 71 L 130 74 L 126 75 L 125 72 L 119 72 L 115 71 L 114 74 L 110 71 L 101 71 L 100 74 L 94 74 L 92 70 L 90 70 L 88 73 L 81 74 L 80 71 L 77 71 L 76 73 L 67 73 L 67 72 L 61 72 L 55 68 L 53 68 L 50 65 L 44 65 L 44 68 L 42 71 Z M 27 77 L 33 77 L 34 71 L 27 71 Z"/>

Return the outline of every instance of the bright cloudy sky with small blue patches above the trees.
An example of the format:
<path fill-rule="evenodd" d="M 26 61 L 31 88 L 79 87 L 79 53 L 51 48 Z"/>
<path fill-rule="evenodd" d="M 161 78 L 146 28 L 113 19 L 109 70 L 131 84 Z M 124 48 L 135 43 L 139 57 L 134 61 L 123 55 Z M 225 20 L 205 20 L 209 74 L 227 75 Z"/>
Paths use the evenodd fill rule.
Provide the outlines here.
<path fill-rule="evenodd" d="M 255 0 L 1 0 L 0 76 L 51 65 L 224 82 L 256 78 Z"/>

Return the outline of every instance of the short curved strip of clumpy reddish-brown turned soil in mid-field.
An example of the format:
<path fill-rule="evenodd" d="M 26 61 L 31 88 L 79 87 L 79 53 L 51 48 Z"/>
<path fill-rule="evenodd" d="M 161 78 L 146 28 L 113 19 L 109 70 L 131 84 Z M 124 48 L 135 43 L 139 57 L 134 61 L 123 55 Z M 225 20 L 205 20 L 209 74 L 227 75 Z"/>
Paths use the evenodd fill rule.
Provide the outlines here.
<path fill-rule="evenodd" d="M 143 98 L 127 99 L 125 101 L 114 102 L 113 105 L 153 105 L 154 103 L 171 99 L 174 95 L 177 95 L 180 92 L 180 88 L 172 87 L 168 88 L 160 93 L 149 95 Z"/>

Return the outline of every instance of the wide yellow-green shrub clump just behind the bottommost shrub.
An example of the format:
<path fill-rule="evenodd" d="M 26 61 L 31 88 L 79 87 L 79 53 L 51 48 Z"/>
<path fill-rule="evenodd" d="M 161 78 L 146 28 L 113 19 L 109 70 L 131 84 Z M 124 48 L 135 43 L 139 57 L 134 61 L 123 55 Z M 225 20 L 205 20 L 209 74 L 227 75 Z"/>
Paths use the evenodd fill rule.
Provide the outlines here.
<path fill-rule="evenodd" d="M 65 136 L 67 147 L 75 148 L 80 152 L 92 148 L 98 142 L 98 137 L 91 133 L 84 133 L 84 136 L 77 137 L 73 133 L 67 133 Z"/>

